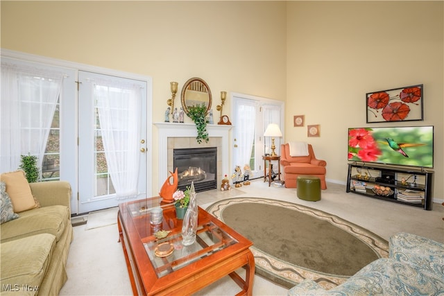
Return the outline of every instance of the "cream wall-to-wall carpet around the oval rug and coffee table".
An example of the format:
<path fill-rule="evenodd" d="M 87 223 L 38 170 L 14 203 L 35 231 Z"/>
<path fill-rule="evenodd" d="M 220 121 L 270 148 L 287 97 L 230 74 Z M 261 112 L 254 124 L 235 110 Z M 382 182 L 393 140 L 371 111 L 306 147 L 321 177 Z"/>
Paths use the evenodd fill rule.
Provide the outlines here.
<path fill-rule="evenodd" d="M 327 186 L 328 189 L 322 191 L 321 201 L 308 202 L 296 197 L 296 189 L 268 186 L 267 182 L 253 180 L 250 186 L 242 186 L 241 190 L 214 189 L 198 193 L 198 204 L 206 209 L 210 204 L 228 198 L 265 196 L 334 214 L 365 227 L 385 240 L 396 232 L 410 232 L 444 243 L 444 207 L 441 204 L 434 204 L 433 211 L 424 211 L 418 207 L 345 193 L 343 184 L 328 183 Z M 74 227 L 74 241 L 67 262 L 68 281 L 59 295 L 133 295 L 117 224 L 89 230 L 85 227 Z M 237 272 L 243 275 L 245 270 L 239 268 Z M 200 290 L 195 296 L 236 295 L 239 290 L 239 286 L 227 276 Z M 284 296 L 287 292 L 288 288 L 255 275 L 254 296 Z"/>

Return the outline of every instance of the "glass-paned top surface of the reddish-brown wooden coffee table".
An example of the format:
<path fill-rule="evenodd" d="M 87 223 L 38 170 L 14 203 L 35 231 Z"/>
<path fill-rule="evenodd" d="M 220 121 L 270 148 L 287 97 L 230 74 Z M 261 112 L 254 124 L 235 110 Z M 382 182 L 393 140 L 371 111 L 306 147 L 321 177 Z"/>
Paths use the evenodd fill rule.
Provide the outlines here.
<path fill-rule="evenodd" d="M 182 220 L 176 218 L 173 204 L 161 202 L 162 198 L 159 197 L 120 205 L 123 219 L 126 223 L 130 221 L 137 231 L 139 242 L 143 244 L 157 277 L 169 275 L 238 243 L 212 221 L 216 218 L 199 208 L 196 242 L 189 246 L 182 245 Z M 152 225 L 151 210 L 156 207 L 162 208 L 163 219 L 161 224 Z M 154 234 L 159 230 L 169 230 L 171 233 L 166 238 L 157 239 Z M 165 252 L 160 254 L 160 249 Z"/>

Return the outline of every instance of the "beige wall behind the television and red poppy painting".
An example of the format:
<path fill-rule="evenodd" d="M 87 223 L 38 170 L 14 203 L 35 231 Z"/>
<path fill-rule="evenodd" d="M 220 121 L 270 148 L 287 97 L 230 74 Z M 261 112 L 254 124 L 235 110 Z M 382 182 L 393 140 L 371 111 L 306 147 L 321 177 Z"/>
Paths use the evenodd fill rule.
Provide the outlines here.
<path fill-rule="evenodd" d="M 443 199 L 443 1 L 290 1 L 287 141 L 309 141 L 327 179 L 347 177 L 347 128 L 434 125 L 434 197 Z M 424 121 L 366 123 L 366 93 L 424 85 Z M 293 128 L 293 115 L 321 137 Z"/>

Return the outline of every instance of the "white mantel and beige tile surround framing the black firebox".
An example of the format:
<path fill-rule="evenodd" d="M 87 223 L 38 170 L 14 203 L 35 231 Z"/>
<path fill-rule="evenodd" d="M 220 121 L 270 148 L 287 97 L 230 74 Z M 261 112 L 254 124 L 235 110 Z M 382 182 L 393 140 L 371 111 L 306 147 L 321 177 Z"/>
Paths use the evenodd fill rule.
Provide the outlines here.
<path fill-rule="evenodd" d="M 217 147 L 217 184 L 221 184 L 223 175 L 230 175 L 229 136 L 232 125 L 207 125 L 210 141 L 197 143 L 194 123 L 154 123 L 159 134 L 159 188 L 162 188 L 173 171 L 174 148 Z"/>

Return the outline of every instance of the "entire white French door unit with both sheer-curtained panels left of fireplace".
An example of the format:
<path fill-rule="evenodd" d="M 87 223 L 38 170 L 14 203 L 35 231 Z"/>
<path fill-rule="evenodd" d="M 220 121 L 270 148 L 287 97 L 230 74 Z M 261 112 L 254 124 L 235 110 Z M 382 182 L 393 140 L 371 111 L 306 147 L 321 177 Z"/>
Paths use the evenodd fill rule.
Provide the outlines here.
<path fill-rule="evenodd" d="M 1 171 L 37 156 L 40 180 L 71 184 L 71 214 L 151 193 L 151 78 L 8 50 L 1 70 Z"/>

